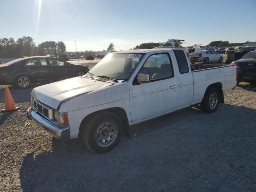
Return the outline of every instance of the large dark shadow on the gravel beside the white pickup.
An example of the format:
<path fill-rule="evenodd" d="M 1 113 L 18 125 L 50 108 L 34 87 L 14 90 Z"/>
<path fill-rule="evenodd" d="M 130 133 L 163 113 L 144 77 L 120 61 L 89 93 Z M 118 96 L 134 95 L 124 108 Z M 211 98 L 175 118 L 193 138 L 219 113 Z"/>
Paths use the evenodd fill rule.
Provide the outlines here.
<path fill-rule="evenodd" d="M 81 138 L 53 138 L 52 150 L 24 158 L 20 184 L 39 192 L 255 191 L 255 116 L 229 104 L 211 114 L 186 108 L 131 126 L 131 138 L 105 154 Z"/>

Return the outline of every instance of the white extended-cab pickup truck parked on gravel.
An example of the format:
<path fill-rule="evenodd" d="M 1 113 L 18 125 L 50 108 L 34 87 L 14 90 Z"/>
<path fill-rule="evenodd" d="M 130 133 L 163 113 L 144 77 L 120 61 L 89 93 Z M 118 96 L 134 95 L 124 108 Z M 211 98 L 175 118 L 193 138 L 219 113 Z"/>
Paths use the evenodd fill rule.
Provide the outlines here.
<path fill-rule="evenodd" d="M 214 112 L 236 86 L 236 65 L 190 65 L 184 50 L 108 54 L 86 75 L 32 90 L 28 117 L 62 140 L 82 135 L 88 149 L 107 152 L 129 126 L 200 104 Z"/>

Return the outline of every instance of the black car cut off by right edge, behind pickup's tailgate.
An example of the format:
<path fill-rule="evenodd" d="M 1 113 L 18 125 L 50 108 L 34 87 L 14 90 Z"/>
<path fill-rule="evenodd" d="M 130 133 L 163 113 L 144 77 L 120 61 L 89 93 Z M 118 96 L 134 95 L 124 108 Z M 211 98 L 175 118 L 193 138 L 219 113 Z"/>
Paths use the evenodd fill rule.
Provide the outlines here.
<path fill-rule="evenodd" d="M 236 64 L 237 84 L 241 81 L 256 82 L 256 50 L 248 52 L 232 64 Z"/>

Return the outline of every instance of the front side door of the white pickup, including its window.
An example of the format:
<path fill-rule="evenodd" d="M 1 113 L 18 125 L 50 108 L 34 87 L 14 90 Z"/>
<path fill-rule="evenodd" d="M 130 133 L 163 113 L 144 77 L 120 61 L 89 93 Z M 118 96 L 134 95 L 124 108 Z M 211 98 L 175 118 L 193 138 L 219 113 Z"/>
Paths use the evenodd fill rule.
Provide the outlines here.
<path fill-rule="evenodd" d="M 178 87 L 169 53 L 153 54 L 144 62 L 139 73 L 149 75 L 149 83 L 130 86 L 132 123 L 176 109 Z"/>

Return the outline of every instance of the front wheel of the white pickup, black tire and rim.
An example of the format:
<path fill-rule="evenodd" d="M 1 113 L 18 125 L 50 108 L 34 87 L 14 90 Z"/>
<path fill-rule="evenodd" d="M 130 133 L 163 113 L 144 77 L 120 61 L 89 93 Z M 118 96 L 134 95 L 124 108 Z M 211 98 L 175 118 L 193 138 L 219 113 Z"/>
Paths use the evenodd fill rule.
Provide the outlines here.
<path fill-rule="evenodd" d="M 112 126 L 109 126 L 109 125 L 112 125 Z M 110 131 L 108 130 L 109 127 L 111 129 Z M 114 136 L 112 135 L 111 137 L 111 134 L 114 133 L 114 130 L 117 131 L 116 135 Z M 101 131 L 102 134 L 99 135 L 98 134 L 99 131 Z M 106 132 L 111 132 L 111 133 L 107 133 L 107 134 L 110 134 L 110 136 L 108 137 L 109 141 L 104 143 L 103 140 L 101 140 L 102 142 L 100 142 L 99 140 L 101 139 L 101 136 L 104 136 Z M 92 152 L 96 152 L 96 153 L 108 152 L 113 148 L 115 148 L 121 139 L 122 121 L 116 114 L 112 112 L 100 112 L 98 114 L 91 116 L 85 122 L 85 124 L 82 126 L 82 136 L 83 136 L 84 144 Z"/>

